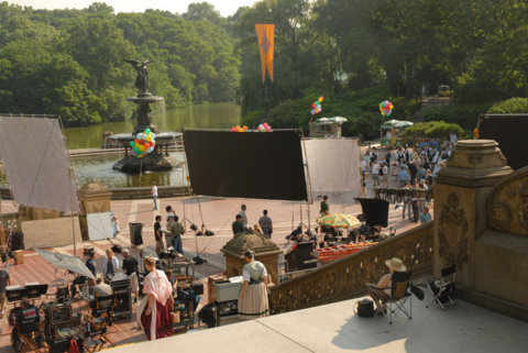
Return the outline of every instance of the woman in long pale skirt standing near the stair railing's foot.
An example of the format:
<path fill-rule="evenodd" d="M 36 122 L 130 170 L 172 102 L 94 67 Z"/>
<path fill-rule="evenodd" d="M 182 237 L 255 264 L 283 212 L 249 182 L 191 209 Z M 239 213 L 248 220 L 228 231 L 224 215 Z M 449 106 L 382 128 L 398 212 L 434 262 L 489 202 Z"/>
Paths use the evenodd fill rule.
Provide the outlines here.
<path fill-rule="evenodd" d="M 255 254 L 248 250 L 244 253 L 246 264 L 242 267 L 244 283 L 239 297 L 239 318 L 252 320 L 270 315 L 267 300 L 267 271 L 260 261 L 255 261 Z"/>

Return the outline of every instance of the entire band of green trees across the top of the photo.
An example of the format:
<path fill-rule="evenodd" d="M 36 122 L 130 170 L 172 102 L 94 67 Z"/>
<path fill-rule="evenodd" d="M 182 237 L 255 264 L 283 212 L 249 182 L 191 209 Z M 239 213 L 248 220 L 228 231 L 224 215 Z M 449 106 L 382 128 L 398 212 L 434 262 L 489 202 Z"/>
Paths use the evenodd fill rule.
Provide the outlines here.
<path fill-rule="evenodd" d="M 275 24 L 274 82 L 261 80 L 255 23 Z M 3 2 L 0 34 L 0 111 L 61 113 L 69 125 L 123 119 L 135 76 L 124 58 L 155 60 L 152 92 L 168 107 L 235 100 L 251 128 L 307 129 L 322 95 L 315 118 L 349 118 L 345 134 L 365 139 L 377 134 L 381 100 L 408 120 L 439 85 L 455 104 L 425 119 L 463 129 L 493 102 L 528 97 L 526 0 L 262 0 L 229 18 L 206 2 L 183 14 Z"/>

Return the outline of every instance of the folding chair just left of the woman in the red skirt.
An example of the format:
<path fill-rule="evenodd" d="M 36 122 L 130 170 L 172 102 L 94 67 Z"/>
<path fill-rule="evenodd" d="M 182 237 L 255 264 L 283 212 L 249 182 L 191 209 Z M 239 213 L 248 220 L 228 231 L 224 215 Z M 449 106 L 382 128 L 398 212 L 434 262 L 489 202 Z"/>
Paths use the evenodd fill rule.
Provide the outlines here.
<path fill-rule="evenodd" d="M 88 321 L 88 332 L 85 334 L 86 351 L 99 352 L 105 343 L 116 345 L 107 335 L 107 328 L 113 323 L 113 312 L 116 310 L 117 299 L 114 295 L 98 297 L 96 308 L 88 309 L 86 319 Z M 102 342 L 102 343 L 101 343 Z"/>

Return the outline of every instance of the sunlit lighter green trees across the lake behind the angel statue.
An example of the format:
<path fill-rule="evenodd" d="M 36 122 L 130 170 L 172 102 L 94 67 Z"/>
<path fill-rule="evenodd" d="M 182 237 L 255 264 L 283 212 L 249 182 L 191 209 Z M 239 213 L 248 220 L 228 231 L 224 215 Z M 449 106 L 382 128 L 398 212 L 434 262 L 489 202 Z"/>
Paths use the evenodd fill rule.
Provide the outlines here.
<path fill-rule="evenodd" d="M 151 59 L 151 91 L 167 107 L 232 101 L 240 80 L 231 23 L 208 3 L 183 15 L 33 10 L 0 3 L 0 111 L 61 114 L 66 125 L 124 119 L 135 70 Z"/>

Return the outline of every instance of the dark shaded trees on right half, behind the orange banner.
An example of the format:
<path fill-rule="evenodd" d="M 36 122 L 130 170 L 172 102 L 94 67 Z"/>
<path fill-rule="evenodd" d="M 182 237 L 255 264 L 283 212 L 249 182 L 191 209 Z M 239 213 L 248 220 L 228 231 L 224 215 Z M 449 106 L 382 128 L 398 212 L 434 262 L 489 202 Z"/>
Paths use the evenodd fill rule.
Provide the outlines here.
<path fill-rule="evenodd" d="M 374 135 L 378 101 L 352 110 L 359 103 L 348 102 L 346 95 L 363 101 L 365 88 L 383 85 L 382 98 L 402 104 L 395 97 L 435 95 L 439 85 L 450 85 L 461 106 L 435 107 L 426 119 L 473 129 L 492 102 L 528 96 L 525 0 L 266 0 L 239 16 L 248 123 L 304 125 L 311 101 L 324 95 L 321 115 L 351 118 L 348 130 Z M 264 118 L 254 23 L 267 22 L 276 25 L 276 60 L 275 82 L 266 82 L 272 108 Z M 413 101 L 403 103 L 416 108 Z"/>

